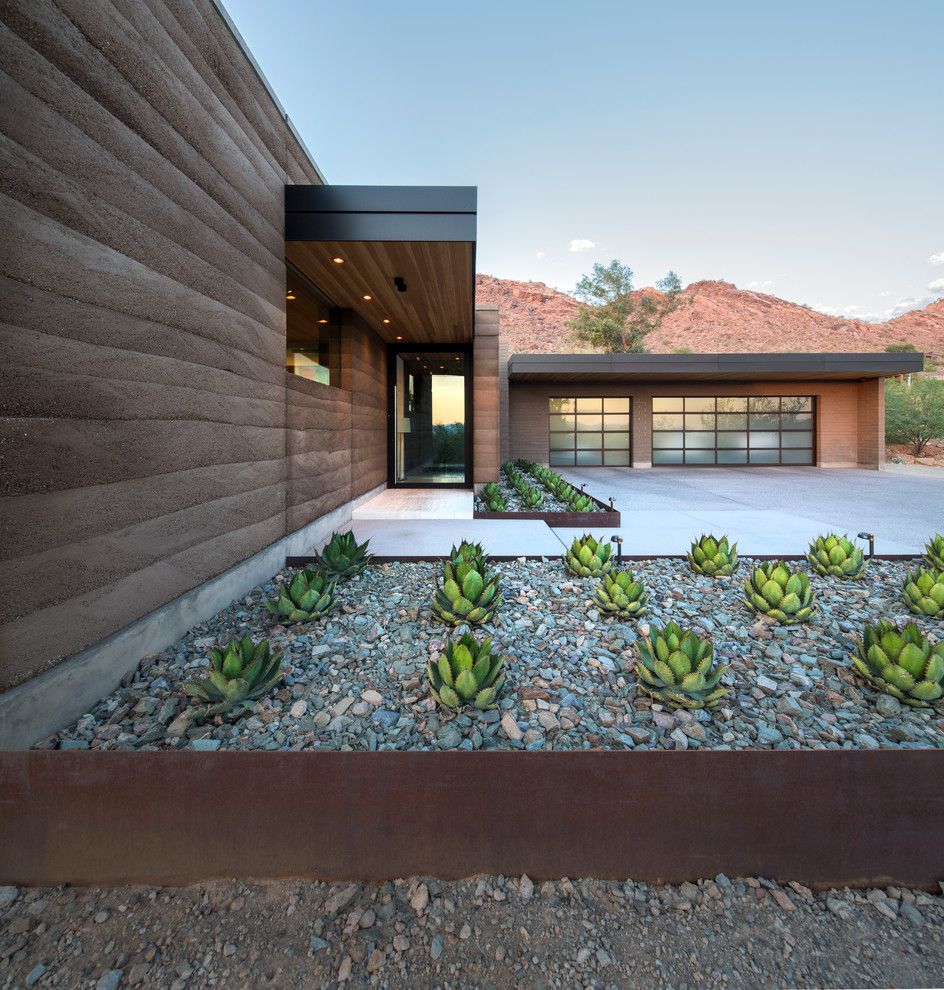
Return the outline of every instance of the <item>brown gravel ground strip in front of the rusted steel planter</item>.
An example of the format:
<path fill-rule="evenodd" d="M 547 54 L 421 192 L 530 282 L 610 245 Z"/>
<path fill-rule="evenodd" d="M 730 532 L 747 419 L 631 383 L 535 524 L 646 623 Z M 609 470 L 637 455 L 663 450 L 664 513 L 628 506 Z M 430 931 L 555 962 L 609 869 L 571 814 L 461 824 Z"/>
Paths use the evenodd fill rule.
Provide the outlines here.
<path fill-rule="evenodd" d="M 944 898 L 766 878 L 0 887 L 0 986 L 930 987 Z"/>

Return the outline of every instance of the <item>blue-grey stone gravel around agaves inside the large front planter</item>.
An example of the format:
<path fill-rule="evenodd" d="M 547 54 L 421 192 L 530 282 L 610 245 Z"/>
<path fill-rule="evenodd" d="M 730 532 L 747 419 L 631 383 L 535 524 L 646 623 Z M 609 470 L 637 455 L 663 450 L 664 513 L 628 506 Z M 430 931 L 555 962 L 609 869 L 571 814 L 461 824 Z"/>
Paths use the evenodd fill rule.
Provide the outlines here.
<path fill-rule="evenodd" d="M 877 749 L 944 746 L 944 713 L 912 709 L 853 676 L 852 637 L 865 620 L 913 618 L 900 585 L 908 562 L 872 561 L 867 577 L 814 576 L 819 609 L 798 626 L 759 621 L 740 581 L 692 574 L 685 561 L 637 563 L 650 593 L 646 621 L 675 619 L 714 638 L 730 664 L 727 702 L 670 711 L 636 690 L 635 624 L 601 618 L 596 582 L 558 559 L 502 563 L 505 601 L 485 629 L 509 656 L 497 709 L 458 717 L 437 710 L 425 665 L 447 628 L 426 604 L 439 565 L 372 565 L 340 586 L 340 601 L 310 626 L 273 626 L 256 588 L 163 653 L 76 723 L 38 743 L 61 749 Z M 744 561 L 740 577 L 750 566 Z M 277 579 L 284 578 L 277 575 Z M 925 633 L 942 623 L 918 619 Z M 207 648 L 235 635 L 268 635 L 285 651 L 284 684 L 235 722 L 192 724 L 184 681 Z"/>

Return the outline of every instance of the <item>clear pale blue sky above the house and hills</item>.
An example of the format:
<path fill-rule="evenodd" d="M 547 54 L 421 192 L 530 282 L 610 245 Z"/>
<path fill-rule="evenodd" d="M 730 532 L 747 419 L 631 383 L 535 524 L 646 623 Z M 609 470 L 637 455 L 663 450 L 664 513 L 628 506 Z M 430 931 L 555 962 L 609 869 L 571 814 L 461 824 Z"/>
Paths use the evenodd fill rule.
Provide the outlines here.
<path fill-rule="evenodd" d="M 478 270 L 944 296 L 944 0 L 226 0 L 329 182 L 476 185 Z"/>

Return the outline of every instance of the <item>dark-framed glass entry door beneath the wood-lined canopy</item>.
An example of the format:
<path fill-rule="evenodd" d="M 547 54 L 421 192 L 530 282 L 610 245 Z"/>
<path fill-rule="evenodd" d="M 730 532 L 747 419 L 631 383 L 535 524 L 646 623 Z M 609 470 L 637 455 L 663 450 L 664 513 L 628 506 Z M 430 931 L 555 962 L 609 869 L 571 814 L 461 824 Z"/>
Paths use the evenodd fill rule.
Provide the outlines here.
<path fill-rule="evenodd" d="M 465 487 L 468 352 L 402 349 L 391 356 L 390 483 Z"/>

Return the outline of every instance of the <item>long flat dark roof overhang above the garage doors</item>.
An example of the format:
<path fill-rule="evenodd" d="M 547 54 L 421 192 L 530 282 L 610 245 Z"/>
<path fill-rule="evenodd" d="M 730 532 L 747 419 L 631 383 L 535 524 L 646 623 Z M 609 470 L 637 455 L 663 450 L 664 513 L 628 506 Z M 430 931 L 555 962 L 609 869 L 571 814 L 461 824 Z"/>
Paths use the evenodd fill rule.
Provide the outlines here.
<path fill-rule="evenodd" d="M 923 354 L 513 354 L 515 382 L 858 381 L 921 371 Z"/>

